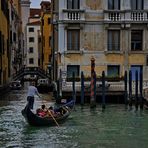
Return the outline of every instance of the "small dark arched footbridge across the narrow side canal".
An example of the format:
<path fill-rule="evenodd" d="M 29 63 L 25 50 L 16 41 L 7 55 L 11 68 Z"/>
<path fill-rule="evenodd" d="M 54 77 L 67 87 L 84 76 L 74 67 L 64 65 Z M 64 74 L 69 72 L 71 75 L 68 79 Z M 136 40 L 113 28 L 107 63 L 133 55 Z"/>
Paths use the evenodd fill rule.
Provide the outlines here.
<path fill-rule="evenodd" d="M 14 76 L 13 80 L 19 80 L 23 79 L 25 75 L 37 75 L 41 78 L 50 78 L 50 76 L 44 71 L 43 69 L 39 67 L 26 67 L 20 69 Z"/>

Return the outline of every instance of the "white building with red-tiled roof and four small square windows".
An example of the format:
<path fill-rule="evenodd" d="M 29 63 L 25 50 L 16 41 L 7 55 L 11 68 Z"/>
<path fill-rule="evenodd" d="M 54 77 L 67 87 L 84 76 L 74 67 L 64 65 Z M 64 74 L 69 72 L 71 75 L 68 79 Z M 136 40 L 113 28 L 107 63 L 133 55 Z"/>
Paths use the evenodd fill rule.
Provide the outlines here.
<path fill-rule="evenodd" d="M 39 67 L 41 10 L 31 8 L 27 24 L 27 64 L 26 67 Z"/>

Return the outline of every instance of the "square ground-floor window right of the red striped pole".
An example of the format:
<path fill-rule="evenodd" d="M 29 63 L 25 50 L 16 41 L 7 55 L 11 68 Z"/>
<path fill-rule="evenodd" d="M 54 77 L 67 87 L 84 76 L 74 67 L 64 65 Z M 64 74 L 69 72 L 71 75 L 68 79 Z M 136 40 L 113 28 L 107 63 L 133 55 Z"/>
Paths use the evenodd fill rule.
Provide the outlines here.
<path fill-rule="evenodd" d="M 119 65 L 108 65 L 107 66 L 107 76 L 108 77 L 119 77 L 120 76 L 120 66 Z"/>

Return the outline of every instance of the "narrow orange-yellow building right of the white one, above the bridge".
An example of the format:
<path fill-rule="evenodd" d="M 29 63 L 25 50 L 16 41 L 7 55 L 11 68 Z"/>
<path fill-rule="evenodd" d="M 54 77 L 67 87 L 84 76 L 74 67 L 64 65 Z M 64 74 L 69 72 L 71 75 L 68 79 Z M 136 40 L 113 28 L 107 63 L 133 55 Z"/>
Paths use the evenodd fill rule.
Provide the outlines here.
<path fill-rule="evenodd" d="M 51 51 L 51 3 L 49 1 L 41 2 L 41 41 L 42 41 L 42 57 L 41 65 L 43 70 L 51 77 L 52 68 L 52 51 Z"/>

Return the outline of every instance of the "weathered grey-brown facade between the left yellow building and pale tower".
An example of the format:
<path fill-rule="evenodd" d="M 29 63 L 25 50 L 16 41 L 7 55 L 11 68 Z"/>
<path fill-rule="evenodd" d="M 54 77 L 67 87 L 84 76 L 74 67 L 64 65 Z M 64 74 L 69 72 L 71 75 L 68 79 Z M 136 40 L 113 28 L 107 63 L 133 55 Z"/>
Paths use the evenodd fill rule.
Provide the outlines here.
<path fill-rule="evenodd" d="M 9 3 L 9 65 L 12 78 L 23 66 L 23 33 L 21 6 L 18 0 Z"/>

